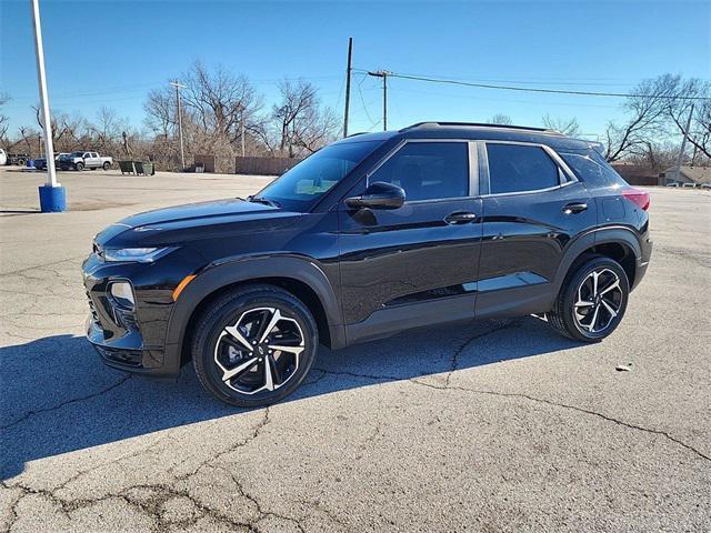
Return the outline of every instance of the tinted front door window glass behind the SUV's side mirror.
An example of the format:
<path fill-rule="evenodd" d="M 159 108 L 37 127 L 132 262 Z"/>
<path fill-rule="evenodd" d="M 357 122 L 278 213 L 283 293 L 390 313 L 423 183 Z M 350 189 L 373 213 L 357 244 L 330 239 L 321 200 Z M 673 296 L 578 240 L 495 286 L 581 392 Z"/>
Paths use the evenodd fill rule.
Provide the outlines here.
<path fill-rule="evenodd" d="M 404 189 L 405 201 L 469 195 L 465 142 L 408 142 L 369 179 Z"/>

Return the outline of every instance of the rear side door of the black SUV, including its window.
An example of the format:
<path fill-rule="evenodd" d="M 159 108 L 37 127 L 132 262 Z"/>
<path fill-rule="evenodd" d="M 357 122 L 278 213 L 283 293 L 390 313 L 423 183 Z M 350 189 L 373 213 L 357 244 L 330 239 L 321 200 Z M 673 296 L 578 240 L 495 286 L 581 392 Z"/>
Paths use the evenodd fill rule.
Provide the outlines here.
<path fill-rule="evenodd" d="M 482 252 L 478 316 L 548 311 L 565 245 L 594 228 L 584 184 L 549 147 L 481 144 Z"/>

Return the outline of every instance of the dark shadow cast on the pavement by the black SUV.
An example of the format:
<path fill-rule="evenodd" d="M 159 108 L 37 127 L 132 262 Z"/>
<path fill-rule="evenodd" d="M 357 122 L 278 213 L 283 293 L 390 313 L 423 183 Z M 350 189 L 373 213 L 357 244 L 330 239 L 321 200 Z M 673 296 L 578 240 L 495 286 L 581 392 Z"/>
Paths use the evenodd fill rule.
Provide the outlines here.
<path fill-rule="evenodd" d="M 337 352 L 322 348 L 286 402 L 577 345 L 529 316 L 431 328 Z M 2 480 L 20 474 L 30 461 L 244 412 L 206 393 L 192 365 L 177 382 L 130 376 L 101 364 L 83 336 L 1 348 L 0 365 Z"/>

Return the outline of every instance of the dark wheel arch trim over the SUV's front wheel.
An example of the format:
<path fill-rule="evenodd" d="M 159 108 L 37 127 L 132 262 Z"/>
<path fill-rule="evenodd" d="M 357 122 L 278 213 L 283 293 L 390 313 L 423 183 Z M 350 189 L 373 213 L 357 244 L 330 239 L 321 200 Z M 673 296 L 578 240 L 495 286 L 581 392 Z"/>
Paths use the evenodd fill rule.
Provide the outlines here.
<path fill-rule="evenodd" d="M 289 278 L 311 288 L 329 321 L 333 348 L 340 348 L 344 343 L 341 341 L 343 321 L 340 302 L 328 276 L 314 261 L 296 255 L 241 258 L 208 266 L 180 293 L 168 322 L 166 364 L 177 364 L 179 369 L 183 339 L 200 302 L 223 286 L 264 278 Z"/>

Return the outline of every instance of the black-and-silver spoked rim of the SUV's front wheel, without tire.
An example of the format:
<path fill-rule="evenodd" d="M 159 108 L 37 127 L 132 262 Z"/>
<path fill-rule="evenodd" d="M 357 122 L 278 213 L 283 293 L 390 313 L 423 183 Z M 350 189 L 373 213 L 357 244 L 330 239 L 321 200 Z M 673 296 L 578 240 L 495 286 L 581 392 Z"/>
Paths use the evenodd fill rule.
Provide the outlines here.
<path fill-rule="evenodd" d="M 256 308 L 220 333 L 214 362 L 227 386 L 256 394 L 274 391 L 293 378 L 304 350 L 294 319 L 277 308 Z"/>

